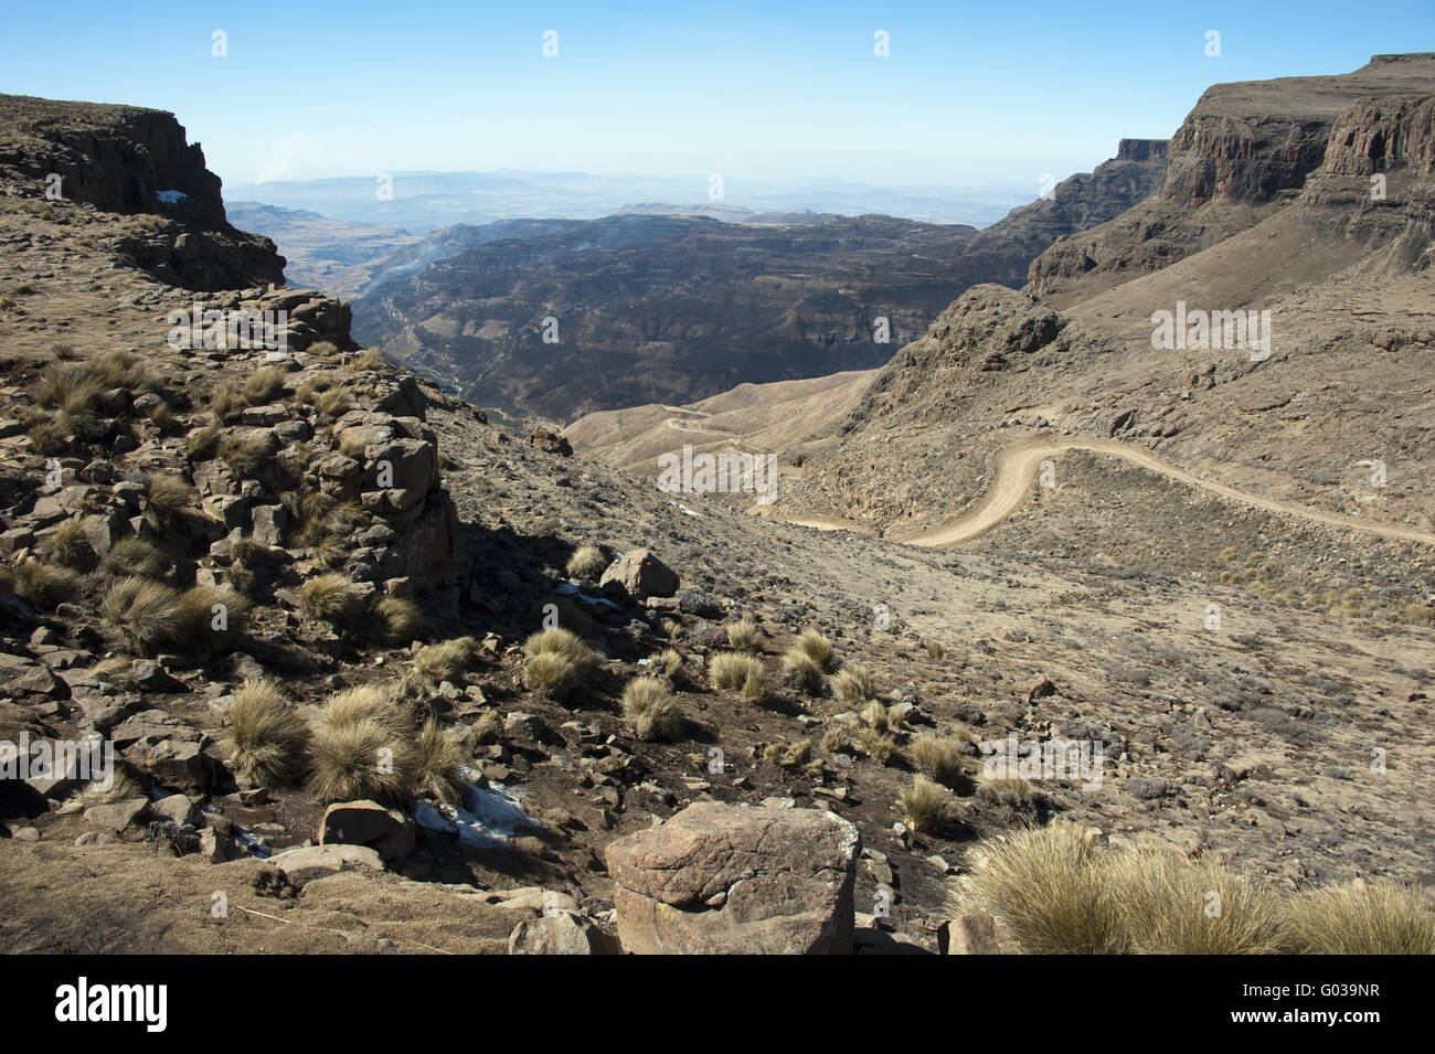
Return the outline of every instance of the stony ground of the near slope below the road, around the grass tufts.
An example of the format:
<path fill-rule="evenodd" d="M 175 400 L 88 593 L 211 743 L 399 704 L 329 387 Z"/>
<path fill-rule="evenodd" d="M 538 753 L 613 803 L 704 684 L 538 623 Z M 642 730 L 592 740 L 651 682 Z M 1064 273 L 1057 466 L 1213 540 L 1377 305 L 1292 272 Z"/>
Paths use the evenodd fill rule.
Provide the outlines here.
<path fill-rule="evenodd" d="M 115 532 L 149 536 L 172 558 L 165 575 L 177 587 L 230 587 L 240 582 L 231 528 L 244 516 L 240 535 L 264 535 L 270 564 L 241 582 L 253 602 L 243 631 L 151 654 L 135 654 L 106 617 L 115 575 L 103 564 L 65 597 L 4 598 L 0 739 L 103 728 L 125 743 L 126 771 L 146 797 L 179 793 L 96 809 L 67 787 L 6 782 L 0 948 L 504 951 L 515 921 L 547 906 L 545 891 L 610 925 L 606 848 L 705 799 L 791 803 L 851 820 L 864 845 L 855 896 L 858 945 L 868 951 L 936 949 L 947 896 L 984 842 L 1032 819 L 1066 817 L 1118 843 L 1214 855 L 1280 889 L 1356 875 L 1435 883 L 1426 698 L 1435 634 L 1411 617 L 1435 588 L 1425 549 L 1256 512 L 1079 452 L 1062 457 L 1055 488 L 1038 489 L 963 551 L 785 525 L 720 498 L 679 502 L 597 457 L 515 440 L 472 407 L 356 357 L 333 301 L 258 287 L 215 300 L 291 303 L 310 331 L 284 361 L 271 402 L 218 430 L 221 442 L 263 440 L 261 456 L 241 469 L 195 437 L 212 420 L 214 393 L 247 383 L 265 357 L 166 344 L 165 315 L 195 294 L 119 255 L 125 238 L 154 227 L 0 198 L 4 565 L 16 574 L 29 559 L 49 562 L 57 528 L 75 518 L 100 548 Z M 1376 361 L 1383 353 L 1373 347 L 1362 354 Z M 115 350 L 149 371 L 155 399 L 103 400 L 99 420 L 79 422 L 86 435 L 39 404 L 47 369 Z M 1426 351 L 1416 343 L 1402 354 Z M 1184 373 L 1172 379 L 1184 383 Z M 1055 373 L 1043 376 L 1056 386 Z M 352 409 L 323 409 L 316 381 L 346 391 Z M 950 416 L 961 407 L 921 409 Z M 1089 423 L 1108 409 L 1083 404 L 1059 423 Z M 1029 404 L 1000 412 L 1023 429 L 1039 429 L 1043 416 Z M 65 427 L 56 435 L 52 423 Z M 864 476 L 837 476 L 825 511 L 854 512 L 847 499 L 868 521 L 923 523 L 959 512 L 977 499 L 999 449 L 963 446 L 963 429 L 982 423 L 963 422 L 944 433 L 947 446 L 921 452 L 938 462 L 951 455 L 949 475 L 914 460 L 908 479 L 920 486 L 897 495 L 905 506 L 883 505 L 881 488 Z M 987 423 L 997 435 L 1002 420 Z M 916 443 L 910 424 L 887 437 L 898 456 Z M 1192 470 L 1198 435 L 1192 426 L 1182 440 L 1192 445 L 1177 452 Z M 406 470 L 429 459 L 439 470 L 423 470 L 422 486 L 375 490 L 375 445 L 406 457 Z M 861 457 L 852 450 L 861 447 L 842 456 Z M 1418 450 L 1412 457 L 1422 463 Z M 804 469 L 802 493 L 821 511 L 817 473 L 789 467 Z M 155 526 L 145 495 L 161 473 L 195 488 L 194 508 Z M 276 512 L 286 508 L 286 480 L 346 493 L 360 476 L 362 515 L 337 533 L 306 541 Z M 941 493 L 930 505 L 920 489 L 928 485 Z M 1424 492 L 1409 488 L 1391 498 L 1389 515 L 1428 525 Z M 1345 508 L 1333 489 L 1325 495 L 1323 506 Z M 575 591 L 597 599 L 597 585 L 564 572 L 587 543 L 608 556 L 649 548 L 682 589 L 587 604 Z M 379 640 L 313 617 L 300 589 L 330 569 L 366 584 L 372 598 L 416 598 L 422 624 Z M 563 701 L 531 690 L 522 673 L 519 645 L 550 604 L 600 652 Z M 762 630 L 761 701 L 715 690 L 706 677 L 726 650 L 719 628 L 743 614 Z M 831 640 L 835 668 L 871 673 L 872 695 L 891 707 L 890 743 L 864 743 L 854 713 L 864 701 L 841 698 L 835 677 L 815 690 L 786 681 L 781 657 L 808 628 Z M 459 635 L 482 641 L 471 670 L 441 684 L 413 677 L 416 645 Z M 672 743 L 650 743 L 623 720 L 618 698 L 669 645 L 682 657 L 670 683 L 686 726 Z M 276 878 L 257 858 L 313 842 L 324 803 L 301 786 L 261 789 L 227 770 L 228 707 L 257 674 L 281 680 L 310 714 L 337 688 L 400 683 L 415 710 L 459 744 L 482 800 L 512 799 L 525 822 L 495 822 L 482 843 L 455 836 L 452 825 L 410 827 L 412 845 L 383 872 Z M 944 822 L 916 833 L 900 804 L 913 782 L 908 749 L 923 734 L 961 728 L 990 741 L 1099 741 L 1104 779 L 1099 787 L 1002 787 L 982 780 L 971 746 L 947 780 Z M 152 827 L 132 822 L 144 807 L 197 822 L 199 852 L 175 856 L 172 840 L 154 840 Z M 410 812 L 423 809 L 433 812 L 419 802 Z M 221 916 L 217 893 L 228 905 Z"/>

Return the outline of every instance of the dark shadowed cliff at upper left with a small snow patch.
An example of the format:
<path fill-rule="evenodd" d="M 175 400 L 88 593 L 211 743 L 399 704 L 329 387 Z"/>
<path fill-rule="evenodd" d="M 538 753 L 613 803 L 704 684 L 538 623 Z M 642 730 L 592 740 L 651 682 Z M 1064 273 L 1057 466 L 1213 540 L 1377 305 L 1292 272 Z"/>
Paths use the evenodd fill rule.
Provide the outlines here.
<path fill-rule="evenodd" d="M 36 202 L 145 217 L 116 248 L 161 281 L 195 291 L 284 283 L 274 242 L 225 219 L 220 178 L 172 113 L 0 95 L 0 178 Z"/>

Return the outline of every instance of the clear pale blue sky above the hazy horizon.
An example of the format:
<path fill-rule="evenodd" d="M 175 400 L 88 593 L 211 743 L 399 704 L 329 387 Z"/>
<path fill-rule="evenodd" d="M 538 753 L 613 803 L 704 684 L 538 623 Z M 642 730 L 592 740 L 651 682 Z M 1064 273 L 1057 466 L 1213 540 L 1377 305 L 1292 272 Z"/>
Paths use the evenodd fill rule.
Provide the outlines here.
<path fill-rule="evenodd" d="M 792 176 L 1035 186 L 1168 136 L 1211 83 L 1435 50 L 1431 0 L 9 7 L 0 92 L 174 110 L 227 182 L 692 172 L 700 196 L 722 172 L 730 198 Z"/>

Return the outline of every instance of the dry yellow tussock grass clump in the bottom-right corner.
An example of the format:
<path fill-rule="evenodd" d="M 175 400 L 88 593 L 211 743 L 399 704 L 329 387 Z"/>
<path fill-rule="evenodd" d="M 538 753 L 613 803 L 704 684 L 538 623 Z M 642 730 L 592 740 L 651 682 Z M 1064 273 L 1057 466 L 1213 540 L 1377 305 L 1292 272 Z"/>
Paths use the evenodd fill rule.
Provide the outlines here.
<path fill-rule="evenodd" d="M 1435 911 L 1418 889 L 1353 879 L 1290 898 L 1280 945 L 1306 955 L 1435 955 Z"/>

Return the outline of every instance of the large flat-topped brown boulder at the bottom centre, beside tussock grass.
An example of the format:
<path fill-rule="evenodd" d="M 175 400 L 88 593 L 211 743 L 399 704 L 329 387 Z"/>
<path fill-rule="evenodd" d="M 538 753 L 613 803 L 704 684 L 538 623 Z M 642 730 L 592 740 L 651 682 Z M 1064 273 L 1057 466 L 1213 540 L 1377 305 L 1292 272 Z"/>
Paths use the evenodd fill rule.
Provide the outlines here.
<path fill-rule="evenodd" d="M 623 949 L 845 955 L 861 837 L 814 809 L 699 802 L 607 848 Z"/>

